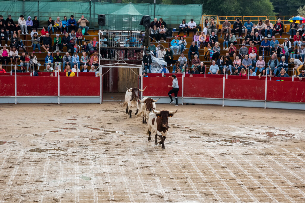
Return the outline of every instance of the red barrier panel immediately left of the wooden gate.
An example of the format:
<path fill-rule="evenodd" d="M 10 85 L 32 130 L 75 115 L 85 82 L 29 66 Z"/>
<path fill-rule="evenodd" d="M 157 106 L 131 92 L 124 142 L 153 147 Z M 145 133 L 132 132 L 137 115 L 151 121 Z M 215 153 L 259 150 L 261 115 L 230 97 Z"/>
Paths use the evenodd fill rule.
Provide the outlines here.
<path fill-rule="evenodd" d="M 99 77 L 60 77 L 59 85 L 60 96 L 99 96 Z"/>

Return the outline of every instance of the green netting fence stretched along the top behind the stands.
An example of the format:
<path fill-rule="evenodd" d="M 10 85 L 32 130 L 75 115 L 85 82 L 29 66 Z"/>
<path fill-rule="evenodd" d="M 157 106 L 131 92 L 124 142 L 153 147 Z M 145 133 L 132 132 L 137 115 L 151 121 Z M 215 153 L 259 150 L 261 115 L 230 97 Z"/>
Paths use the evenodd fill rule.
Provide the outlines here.
<path fill-rule="evenodd" d="M 140 20 L 143 15 L 151 16 L 153 19 L 162 17 L 169 28 L 178 28 L 182 19 L 187 22 L 191 18 L 199 24 L 201 20 L 202 5 L 163 5 L 163 4 L 117 4 L 117 3 L 99 3 L 99 2 L 71 2 L 71 1 L 8 1 L 0 2 L 0 13 L 4 17 L 10 14 L 12 19 L 18 20 L 22 14 L 38 17 L 40 27 L 47 25 L 49 17 L 56 19 L 57 16 L 63 20 L 63 16 L 70 18 L 74 15 L 76 21 L 84 15 L 90 22 L 91 29 L 99 29 L 98 15 L 106 15 L 106 26 L 103 29 L 113 30 L 145 30 L 140 26 Z"/>

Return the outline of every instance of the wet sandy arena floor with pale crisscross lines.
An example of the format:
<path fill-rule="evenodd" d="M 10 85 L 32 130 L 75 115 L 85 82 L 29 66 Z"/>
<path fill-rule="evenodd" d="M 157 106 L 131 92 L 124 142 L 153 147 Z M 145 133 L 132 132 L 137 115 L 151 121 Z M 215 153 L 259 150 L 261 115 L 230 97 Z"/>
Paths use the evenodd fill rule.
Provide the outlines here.
<path fill-rule="evenodd" d="M 165 150 L 134 113 L 2 104 L 0 202 L 305 202 L 305 111 L 179 105 Z"/>

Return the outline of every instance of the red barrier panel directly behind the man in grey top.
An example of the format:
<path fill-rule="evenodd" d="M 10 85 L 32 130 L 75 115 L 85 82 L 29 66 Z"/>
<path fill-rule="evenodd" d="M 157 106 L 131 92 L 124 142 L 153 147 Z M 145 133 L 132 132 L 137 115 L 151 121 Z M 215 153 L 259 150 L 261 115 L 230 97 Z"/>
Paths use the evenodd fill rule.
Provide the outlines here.
<path fill-rule="evenodd" d="M 162 75 L 162 74 L 161 74 Z M 182 95 L 182 78 L 178 79 L 179 92 L 178 96 Z M 155 77 L 146 77 L 143 78 L 143 88 L 147 86 L 143 92 L 143 96 L 168 96 L 168 92 L 172 87 L 167 87 L 172 85 L 173 80 L 171 78 L 155 78 Z"/>

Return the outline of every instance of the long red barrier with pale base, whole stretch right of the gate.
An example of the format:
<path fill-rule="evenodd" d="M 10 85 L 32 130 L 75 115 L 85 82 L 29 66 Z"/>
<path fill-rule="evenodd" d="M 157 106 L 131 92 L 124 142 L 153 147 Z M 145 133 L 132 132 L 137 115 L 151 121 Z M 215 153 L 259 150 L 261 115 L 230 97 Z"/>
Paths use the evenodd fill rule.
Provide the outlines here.
<path fill-rule="evenodd" d="M 141 96 L 161 98 L 169 103 L 172 74 L 151 73 L 141 77 Z M 158 77 L 156 77 L 158 76 Z M 262 107 L 305 110 L 305 79 L 258 76 L 176 74 L 179 85 L 178 103 L 217 104 L 222 106 Z M 283 80 L 283 81 L 281 81 Z"/>

